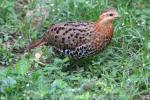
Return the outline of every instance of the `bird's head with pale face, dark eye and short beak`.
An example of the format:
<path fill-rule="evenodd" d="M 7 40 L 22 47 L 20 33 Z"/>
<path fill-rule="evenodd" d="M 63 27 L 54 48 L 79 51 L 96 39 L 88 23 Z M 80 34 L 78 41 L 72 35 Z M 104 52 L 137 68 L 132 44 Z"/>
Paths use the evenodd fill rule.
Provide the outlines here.
<path fill-rule="evenodd" d="M 115 19 L 120 18 L 121 16 L 115 9 L 107 9 L 100 16 L 99 21 L 103 23 L 110 23 Z"/>

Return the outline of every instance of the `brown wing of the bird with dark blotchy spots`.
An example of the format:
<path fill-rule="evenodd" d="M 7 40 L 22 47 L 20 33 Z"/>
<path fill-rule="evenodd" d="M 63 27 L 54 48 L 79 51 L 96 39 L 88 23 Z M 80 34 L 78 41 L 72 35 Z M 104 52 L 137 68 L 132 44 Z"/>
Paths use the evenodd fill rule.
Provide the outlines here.
<path fill-rule="evenodd" d="M 60 49 L 75 49 L 90 42 L 93 34 L 93 23 L 66 22 L 51 26 L 45 37 L 52 46 Z"/>

